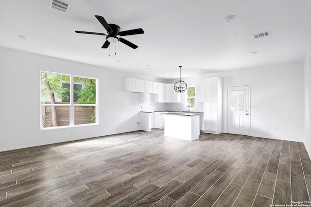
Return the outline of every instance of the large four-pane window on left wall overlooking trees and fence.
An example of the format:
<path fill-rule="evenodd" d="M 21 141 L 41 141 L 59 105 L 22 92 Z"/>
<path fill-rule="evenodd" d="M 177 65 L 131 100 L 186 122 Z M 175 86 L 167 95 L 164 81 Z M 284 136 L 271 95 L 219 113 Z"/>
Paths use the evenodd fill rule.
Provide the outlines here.
<path fill-rule="evenodd" d="M 41 71 L 41 129 L 97 124 L 97 82 Z"/>

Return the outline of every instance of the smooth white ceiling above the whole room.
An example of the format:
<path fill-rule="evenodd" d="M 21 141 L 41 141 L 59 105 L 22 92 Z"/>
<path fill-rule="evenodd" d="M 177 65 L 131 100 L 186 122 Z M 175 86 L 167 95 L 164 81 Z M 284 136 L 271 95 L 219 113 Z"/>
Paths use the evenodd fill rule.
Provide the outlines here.
<path fill-rule="evenodd" d="M 130 71 L 161 79 L 303 60 L 311 40 L 310 0 L 65 0 L 69 13 L 50 0 L 3 0 L 0 46 Z M 101 48 L 107 33 L 94 15 L 121 31 L 142 28 Z M 232 22 L 225 22 L 235 15 Z M 270 31 L 255 39 L 253 34 Z M 17 35 L 25 35 L 27 40 Z M 112 47 L 111 47 L 112 46 Z M 252 55 L 251 52 L 258 51 Z M 150 66 L 144 66 L 144 65 Z"/>

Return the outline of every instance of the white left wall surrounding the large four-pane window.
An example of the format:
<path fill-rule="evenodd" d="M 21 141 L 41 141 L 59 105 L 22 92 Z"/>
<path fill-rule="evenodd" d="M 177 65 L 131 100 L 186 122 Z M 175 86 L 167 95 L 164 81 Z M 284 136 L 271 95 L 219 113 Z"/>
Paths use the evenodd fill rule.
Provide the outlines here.
<path fill-rule="evenodd" d="M 40 70 L 98 78 L 99 125 L 40 130 Z M 140 94 L 124 92 L 125 77 L 163 82 L 0 47 L 0 151 L 139 130 L 139 111 L 166 105 L 141 103 Z"/>

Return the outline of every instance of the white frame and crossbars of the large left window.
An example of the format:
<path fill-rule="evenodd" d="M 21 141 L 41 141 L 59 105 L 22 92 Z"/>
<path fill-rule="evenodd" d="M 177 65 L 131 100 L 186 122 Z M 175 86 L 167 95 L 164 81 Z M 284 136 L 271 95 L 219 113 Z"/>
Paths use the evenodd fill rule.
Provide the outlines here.
<path fill-rule="evenodd" d="M 69 76 L 70 78 L 70 101 L 69 104 L 43 104 L 41 97 L 42 97 L 42 91 L 41 91 L 41 83 L 42 83 L 42 73 L 50 73 L 50 74 L 57 74 L 57 75 L 64 75 L 64 76 Z M 74 97 L 74 90 L 73 90 L 73 77 L 78 77 L 78 78 L 85 78 L 85 79 L 95 79 L 96 80 L 96 103 L 95 104 L 75 104 L 73 103 L 73 97 Z M 92 126 L 92 125 L 99 125 L 99 109 L 98 109 L 98 78 L 91 78 L 91 77 L 86 77 L 86 76 L 77 76 L 77 75 L 70 75 L 70 74 L 64 74 L 64 73 L 56 73 L 56 72 L 50 72 L 50 71 L 40 71 L 40 130 L 48 130 L 48 129 L 56 129 L 56 128 L 69 128 L 69 127 L 84 127 L 84 126 Z M 69 107 L 69 125 L 68 126 L 60 126 L 60 127 L 43 127 L 42 124 L 42 113 L 43 110 L 42 108 L 44 106 L 67 106 Z M 79 124 L 79 125 L 75 125 L 74 124 L 74 107 L 76 106 L 95 106 L 95 116 L 96 116 L 96 121 L 95 123 L 90 123 L 90 124 Z"/>

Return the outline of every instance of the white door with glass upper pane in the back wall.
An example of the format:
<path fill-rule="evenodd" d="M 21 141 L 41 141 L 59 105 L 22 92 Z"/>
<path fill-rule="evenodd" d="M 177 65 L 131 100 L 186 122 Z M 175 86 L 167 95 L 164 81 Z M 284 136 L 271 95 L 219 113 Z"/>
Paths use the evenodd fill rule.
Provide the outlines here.
<path fill-rule="evenodd" d="M 248 135 L 248 86 L 228 87 L 227 129 L 230 134 Z"/>

